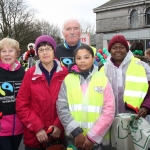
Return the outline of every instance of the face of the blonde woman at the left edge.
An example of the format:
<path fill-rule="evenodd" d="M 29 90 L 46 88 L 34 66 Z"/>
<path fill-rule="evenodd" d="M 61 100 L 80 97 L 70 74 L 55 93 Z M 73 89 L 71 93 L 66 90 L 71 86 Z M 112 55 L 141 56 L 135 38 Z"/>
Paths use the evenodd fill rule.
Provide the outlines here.
<path fill-rule="evenodd" d="M 0 59 L 4 64 L 10 64 L 12 67 L 18 57 L 16 49 L 4 45 L 0 51 Z"/>

